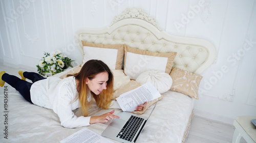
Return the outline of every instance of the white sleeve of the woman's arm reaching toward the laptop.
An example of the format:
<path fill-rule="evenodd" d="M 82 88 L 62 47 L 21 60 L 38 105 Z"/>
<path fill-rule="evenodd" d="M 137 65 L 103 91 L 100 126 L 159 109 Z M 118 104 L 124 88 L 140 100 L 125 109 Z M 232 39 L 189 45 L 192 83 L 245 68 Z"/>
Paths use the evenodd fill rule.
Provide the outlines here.
<path fill-rule="evenodd" d="M 91 117 L 77 117 L 72 111 L 75 96 L 70 83 L 62 83 L 58 87 L 53 110 L 57 113 L 60 124 L 66 128 L 79 128 L 90 125 Z M 74 108 L 74 107 L 73 107 Z"/>

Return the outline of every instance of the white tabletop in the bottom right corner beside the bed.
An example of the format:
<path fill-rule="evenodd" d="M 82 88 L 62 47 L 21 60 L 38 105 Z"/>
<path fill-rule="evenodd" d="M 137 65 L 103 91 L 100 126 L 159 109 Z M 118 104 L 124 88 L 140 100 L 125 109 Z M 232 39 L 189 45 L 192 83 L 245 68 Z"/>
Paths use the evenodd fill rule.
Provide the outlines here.
<path fill-rule="evenodd" d="M 246 133 L 256 141 L 256 127 L 251 123 L 252 119 L 256 119 L 256 116 L 239 116 L 236 120 Z"/>

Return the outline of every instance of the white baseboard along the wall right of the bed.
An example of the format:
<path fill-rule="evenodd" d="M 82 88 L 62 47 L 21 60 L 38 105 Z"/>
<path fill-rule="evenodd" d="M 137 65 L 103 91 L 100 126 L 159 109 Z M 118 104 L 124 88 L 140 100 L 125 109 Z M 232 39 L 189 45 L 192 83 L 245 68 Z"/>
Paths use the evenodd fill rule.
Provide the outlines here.
<path fill-rule="evenodd" d="M 235 120 L 229 117 L 216 115 L 214 113 L 210 113 L 210 112 L 206 112 L 198 109 L 194 109 L 194 113 L 195 113 L 195 116 L 199 116 L 205 119 L 215 120 L 215 121 L 230 124 L 230 125 L 233 125 L 233 122 Z"/>

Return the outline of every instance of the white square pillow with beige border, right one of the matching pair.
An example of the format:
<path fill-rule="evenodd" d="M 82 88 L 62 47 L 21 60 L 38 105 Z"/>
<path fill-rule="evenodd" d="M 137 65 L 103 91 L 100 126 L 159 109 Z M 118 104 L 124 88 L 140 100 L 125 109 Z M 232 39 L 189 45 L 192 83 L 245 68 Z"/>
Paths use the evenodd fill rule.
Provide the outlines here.
<path fill-rule="evenodd" d="M 158 70 L 169 74 L 176 54 L 176 52 L 156 53 L 125 45 L 124 73 L 134 80 L 148 70 Z"/>

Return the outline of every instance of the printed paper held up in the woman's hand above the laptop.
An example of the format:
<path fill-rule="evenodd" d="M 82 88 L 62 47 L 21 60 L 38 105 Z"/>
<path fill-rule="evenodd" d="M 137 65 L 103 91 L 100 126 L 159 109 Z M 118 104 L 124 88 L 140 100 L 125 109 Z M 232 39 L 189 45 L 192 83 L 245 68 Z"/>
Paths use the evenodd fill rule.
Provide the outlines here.
<path fill-rule="evenodd" d="M 136 110 L 135 107 L 138 105 L 157 99 L 160 96 L 154 85 L 147 82 L 132 91 L 121 94 L 116 100 L 123 111 L 131 112 Z"/>

